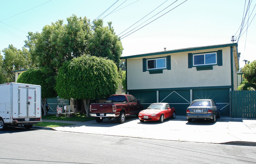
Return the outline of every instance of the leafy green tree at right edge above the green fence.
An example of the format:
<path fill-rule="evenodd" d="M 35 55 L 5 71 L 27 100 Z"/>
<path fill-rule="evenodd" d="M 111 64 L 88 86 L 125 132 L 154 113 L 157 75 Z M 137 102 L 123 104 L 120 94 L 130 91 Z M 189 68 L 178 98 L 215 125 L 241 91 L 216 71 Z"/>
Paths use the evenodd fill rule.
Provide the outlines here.
<path fill-rule="evenodd" d="M 256 90 L 256 61 L 249 62 L 241 69 L 244 81 L 238 90 Z"/>

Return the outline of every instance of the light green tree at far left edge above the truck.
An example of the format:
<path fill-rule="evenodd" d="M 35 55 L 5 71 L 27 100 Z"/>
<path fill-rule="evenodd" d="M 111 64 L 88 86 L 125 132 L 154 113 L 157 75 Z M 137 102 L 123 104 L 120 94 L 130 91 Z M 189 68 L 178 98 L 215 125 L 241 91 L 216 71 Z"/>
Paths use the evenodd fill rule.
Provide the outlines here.
<path fill-rule="evenodd" d="M 4 56 L 0 55 L 0 67 L 4 82 L 14 82 L 15 73 L 12 71 L 35 67 L 30 52 L 25 47 L 17 49 L 12 44 L 3 51 Z"/>

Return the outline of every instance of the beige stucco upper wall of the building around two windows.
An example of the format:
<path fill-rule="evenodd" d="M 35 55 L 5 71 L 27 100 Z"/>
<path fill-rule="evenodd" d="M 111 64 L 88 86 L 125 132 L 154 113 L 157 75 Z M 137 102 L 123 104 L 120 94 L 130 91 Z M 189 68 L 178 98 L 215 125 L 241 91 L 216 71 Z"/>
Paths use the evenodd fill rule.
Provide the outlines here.
<path fill-rule="evenodd" d="M 203 71 L 197 71 L 196 67 L 188 68 L 188 53 L 205 53 L 220 49 L 223 50 L 223 66 L 213 66 L 213 70 Z M 143 72 L 143 58 L 158 58 L 167 55 L 171 55 L 171 70 L 164 69 L 160 74 Z M 230 64 L 230 47 L 128 58 L 127 89 L 230 86 Z"/>

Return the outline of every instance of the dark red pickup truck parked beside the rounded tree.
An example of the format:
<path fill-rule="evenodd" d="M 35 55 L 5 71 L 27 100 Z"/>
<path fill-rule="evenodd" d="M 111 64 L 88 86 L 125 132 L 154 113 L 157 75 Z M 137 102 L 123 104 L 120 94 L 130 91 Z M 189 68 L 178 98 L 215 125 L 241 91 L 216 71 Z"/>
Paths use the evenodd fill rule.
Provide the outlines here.
<path fill-rule="evenodd" d="M 143 106 L 132 95 L 111 95 L 105 103 L 91 104 L 90 116 L 95 117 L 96 122 L 102 122 L 104 118 L 116 118 L 122 124 L 126 116 L 138 116 L 142 110 Z"/>

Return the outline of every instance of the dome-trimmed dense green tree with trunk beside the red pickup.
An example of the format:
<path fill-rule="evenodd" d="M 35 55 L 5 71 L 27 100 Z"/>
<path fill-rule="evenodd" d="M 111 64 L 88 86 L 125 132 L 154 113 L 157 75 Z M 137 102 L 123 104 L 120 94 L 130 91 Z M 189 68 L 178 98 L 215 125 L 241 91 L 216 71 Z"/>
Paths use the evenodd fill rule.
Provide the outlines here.
<path fill-rule="evenodd" d="M 82 99 L 89 117 L 90 100 L 114 94 L 119 82 L 113 60 L 83 55 L 59 68 L 56 91 L 62 98 Z"/>

